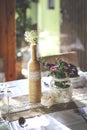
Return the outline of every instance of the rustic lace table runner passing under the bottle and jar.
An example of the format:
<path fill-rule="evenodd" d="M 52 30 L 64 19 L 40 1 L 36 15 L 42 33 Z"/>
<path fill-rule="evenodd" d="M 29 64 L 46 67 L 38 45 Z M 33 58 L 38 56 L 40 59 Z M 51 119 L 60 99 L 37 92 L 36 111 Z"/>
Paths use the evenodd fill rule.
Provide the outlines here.
<path fill-rule="evenodd" d="M 73 109 L 76 107 L 83 107 L 86 105 L 87 105 L 87 87 L 84 87 L 84 88 L 73 89 L 72 101 L 70 103 L 68 104 L 65 103 L 63 105 L 56 104 L 49 109 L 44 108 L 41 105 L 41 103 L 34 103 L 34 104 L 29 103 L 28 95 L 10 98 L 9 99 L 9 113 L 10 115 L 13 114 L 12 118 L 13 116 L 16 116 L 15 119 L 17 119 L 20 115 L 22 115 L 22 113 L 23 115 L 29 117 L 29 116 L 35 116 L 38 113 L 39 114 L 49 113 L 49 112 L 54 112 L 54 111 L 59 111 L 59 110 L 64 110 L 64 109 Z M 36 112 L 33 110 L 35 110 Z M 33 114 L 30 114 L 31 112 L 33 112 Z M 21 114 L 19 115 L 19 113 Z M 15 119 L 12 119 L 12 120 L 15 120 Z"/>

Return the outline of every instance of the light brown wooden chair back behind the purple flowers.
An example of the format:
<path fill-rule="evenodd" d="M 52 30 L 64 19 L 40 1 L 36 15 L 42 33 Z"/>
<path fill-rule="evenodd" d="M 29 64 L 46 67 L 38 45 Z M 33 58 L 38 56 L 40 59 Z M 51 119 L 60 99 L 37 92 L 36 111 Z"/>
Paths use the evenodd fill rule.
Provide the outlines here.
<path fill-rule="evenodd" d="M 40 57 L 40 60 L 44 60 L 48 63 L 55 63 L 56 58 L 61 58 L 67 63 L 71 63 L 77 67 L 79 67 L 79 61 L 78 61 L 78 54 L 76 51 L 67 52 L 67 53 L 60 53 L 58 55 L 50 55 L 50 56 L 44 56 Z M 40 64 L 41 71 L 45 71 L 45 68 L 42 64 Z"/>

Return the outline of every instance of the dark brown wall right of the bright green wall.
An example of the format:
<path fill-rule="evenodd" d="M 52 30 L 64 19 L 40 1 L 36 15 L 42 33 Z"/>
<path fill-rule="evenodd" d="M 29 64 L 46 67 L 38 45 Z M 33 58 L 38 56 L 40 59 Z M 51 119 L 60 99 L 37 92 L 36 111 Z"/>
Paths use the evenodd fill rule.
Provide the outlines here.
<path fill-rule="evenodd" d="M 74 43 L 75 35 L 80 40 L 83 49 L 80 48 L 80 45 L 77 45 L 73 50 L 78 52 L 80 68 L 87 71 L 87 0 L 60 1 L 63 17 L 61 33 L 71 36 L 72 43 Z M 65 39 L 63 41 L 65 43 Z M 69 47 L 70 41 L 68 38 L 67 43 L 66 46 Z"/>

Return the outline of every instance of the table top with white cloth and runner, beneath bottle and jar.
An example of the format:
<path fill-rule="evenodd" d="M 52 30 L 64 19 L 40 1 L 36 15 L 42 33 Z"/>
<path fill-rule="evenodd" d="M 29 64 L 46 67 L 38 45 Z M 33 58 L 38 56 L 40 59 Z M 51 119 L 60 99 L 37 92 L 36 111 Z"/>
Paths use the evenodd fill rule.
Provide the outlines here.
<path fill-rule="evenodd" d="M 46 77 L 42 78 L 42 92 L 49 90 L 49 87 L 47 85 L 44 85 L 44 80 L 48 81 L 49 79 L 47 79 Z M 11 121 L 11 125 L 13 127 L 12 130 L 16 130 L 16 129 L 22 130 L 18 126 L 18 118 L 20 116 L 25 117 L 26 120 L 29 122 L 33 121 L 33 124 L 35 123 L 36 120 L 40 121 L 41 119 L 44 120 L 45 118 L 45 120 L 49 121 L 50 124 L 47 125 L 46 127 L 47 130 L 51 130 L 51 129 L 52 130 L 53 129 L 54 130 L 65 130 L 65 129 L 86 130 L 87 129 L 86 121 L 84 120 L 82 115 L 79 114 L 79 112 L 77 111 L 78 108 L 82 109 L 87 106 L 87 87 L 80 86 L 77 88 L 76 87 L 73 88 L 73 96 L 71 102 L 64 103 L 64 104 L 55 104 L 50 108 L 46 108 L 43 107 L 40 103 L 29 104 L 28 79 L 10 81 L 10 82 L 6 82 L 6 84 L 8 84 L 8 87 L 12 92 L 10 95 L 11 111 L 9 114 L 9 120 Z M 53 127 L 51 125 L 52 122 L 53 122 L 53 126 L 56 127 Z M 29 126 L 28 129 L 39 130 L 40 126 L 36 128 L 32 128 L 31 126 Z"/>

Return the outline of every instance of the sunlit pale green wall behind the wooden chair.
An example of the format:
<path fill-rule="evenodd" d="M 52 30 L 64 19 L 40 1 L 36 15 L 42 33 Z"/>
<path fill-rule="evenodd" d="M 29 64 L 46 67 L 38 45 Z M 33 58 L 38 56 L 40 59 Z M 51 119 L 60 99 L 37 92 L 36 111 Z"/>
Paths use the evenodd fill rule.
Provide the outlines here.
<path fill-rule="evenodd" d="M 41 56 L 60 52 L 60 0 L 54 1 L 54 9 L 48 9 L 48 0 L 39 0 L 38 3 L 38 49 Z"/>

